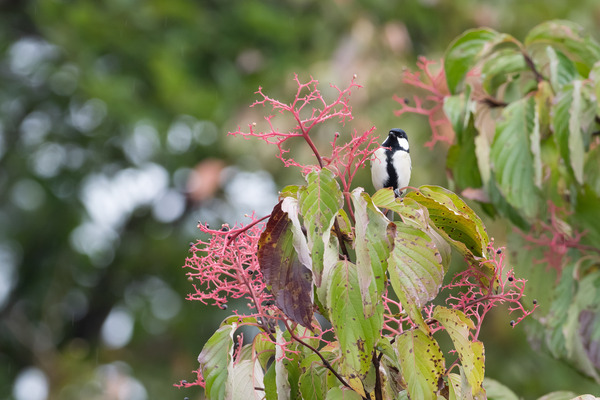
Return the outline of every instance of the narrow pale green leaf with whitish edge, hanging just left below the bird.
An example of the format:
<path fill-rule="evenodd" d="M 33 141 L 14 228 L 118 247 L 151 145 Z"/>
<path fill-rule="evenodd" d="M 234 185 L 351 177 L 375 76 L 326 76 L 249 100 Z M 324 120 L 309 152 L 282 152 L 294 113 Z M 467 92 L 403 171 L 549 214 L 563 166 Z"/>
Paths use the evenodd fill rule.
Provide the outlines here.
<path fill-rule="evenodd" d="M 373 315 L 383 293 L 387 259 L 392 243 L 388 236 L 388 220 L 373 204 L 364 189 L 352 191 L 356 218 L 354 246 L 358 281 L 365 317 Z"/>

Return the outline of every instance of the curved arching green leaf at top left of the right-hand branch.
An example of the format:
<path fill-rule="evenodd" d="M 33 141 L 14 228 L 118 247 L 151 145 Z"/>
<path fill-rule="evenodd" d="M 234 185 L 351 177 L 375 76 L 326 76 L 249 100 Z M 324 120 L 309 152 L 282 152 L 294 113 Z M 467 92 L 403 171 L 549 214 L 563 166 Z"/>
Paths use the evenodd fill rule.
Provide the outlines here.
<path fill-rule="evenodd" d="M 450 93 L 456 94 L 467 72 L 495 45 L 502 42 L 516 41 L 510 35 L 487 28 L 468 30 L 456 38 L 444 56 L 444 69 Z"/>

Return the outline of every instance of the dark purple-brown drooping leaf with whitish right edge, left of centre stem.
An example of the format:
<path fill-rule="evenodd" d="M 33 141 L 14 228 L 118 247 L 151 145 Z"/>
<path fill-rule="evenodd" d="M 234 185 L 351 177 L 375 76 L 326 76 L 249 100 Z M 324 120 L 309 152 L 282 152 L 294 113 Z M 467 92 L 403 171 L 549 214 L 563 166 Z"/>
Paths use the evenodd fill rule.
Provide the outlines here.
<path fill-rule="evenodd" d="M 293 197 L 286 197 L 273 208 L 260 236 L 258 262 L 277 306 L 293 321 L 310 327 L 313 315 L 311 259 L 299 226 L 296 204 Z"/>

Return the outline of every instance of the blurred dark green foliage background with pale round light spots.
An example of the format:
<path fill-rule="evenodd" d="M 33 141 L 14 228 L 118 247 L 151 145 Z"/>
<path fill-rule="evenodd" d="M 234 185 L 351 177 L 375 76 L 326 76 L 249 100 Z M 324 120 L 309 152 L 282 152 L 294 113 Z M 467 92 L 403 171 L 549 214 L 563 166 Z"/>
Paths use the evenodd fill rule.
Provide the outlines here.
<path fill-rule="evenodd" d="M 294 72 L 324 88 L 357 74 L 337 129 L 404 127 L 412 183 L 444 185 L 446 149 L 393 114 L 403 69 L 466 29 L 523 38 L 554 18 L 594 33 L 600 3 L 0 0 L 0 397 L 199 398 L 172 384 L 228 312 L 184 300 L 196 222 L 265 215 L 301 179 L 226 135 L 268 111 L 248 108 L 258 86 L 287 101 Z M 487 223 L 501 243 L 506 225 Z M 600 394 L 508 320 L 497 310 L 482 338 L 488 376 L 524 398 Z"/>

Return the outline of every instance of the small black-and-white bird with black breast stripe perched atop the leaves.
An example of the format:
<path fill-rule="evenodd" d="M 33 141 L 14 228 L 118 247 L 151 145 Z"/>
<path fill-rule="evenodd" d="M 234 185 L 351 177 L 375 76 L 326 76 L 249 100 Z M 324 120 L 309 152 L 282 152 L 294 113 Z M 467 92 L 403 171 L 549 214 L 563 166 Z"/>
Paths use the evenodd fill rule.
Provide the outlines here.
<path fill-rule="evenodd" d="M 410 182 L 411 169 L 406 132 L 394 128 L 371 159 L 371 179 L 375 190 L 391 187 L 396 197 L 400 197 L 403 194 L 400 189 Z"/>

